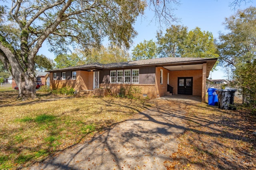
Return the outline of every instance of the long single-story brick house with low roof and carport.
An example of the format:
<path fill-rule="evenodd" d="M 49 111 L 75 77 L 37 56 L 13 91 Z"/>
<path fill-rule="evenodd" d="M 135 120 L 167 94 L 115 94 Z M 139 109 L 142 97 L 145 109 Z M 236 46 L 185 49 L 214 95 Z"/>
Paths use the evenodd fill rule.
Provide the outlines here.
<path fill-rule="evenodd" d="M 158 58 L 111 64 L 85 64 L 49 70 L 50 87 L 70 86 L 77 92 L 109 88 L 118 94 L 121 87 L 139 86 L 142 96 L 158 98 L 167 94 L 202 96 L 206 78 L 217 59 Z"/>

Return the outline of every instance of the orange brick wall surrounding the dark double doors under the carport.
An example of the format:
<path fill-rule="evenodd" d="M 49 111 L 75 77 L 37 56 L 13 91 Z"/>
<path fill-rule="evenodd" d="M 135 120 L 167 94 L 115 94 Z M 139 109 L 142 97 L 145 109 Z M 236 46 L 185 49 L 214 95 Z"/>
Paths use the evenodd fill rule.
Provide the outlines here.
<path fill-rule="evenodd" d="M 169 84 L 173 94 L 178 94 L 178 77 L 193 77 L 193 96 L 202 96 L 202 70 L 170 71 Z"/>

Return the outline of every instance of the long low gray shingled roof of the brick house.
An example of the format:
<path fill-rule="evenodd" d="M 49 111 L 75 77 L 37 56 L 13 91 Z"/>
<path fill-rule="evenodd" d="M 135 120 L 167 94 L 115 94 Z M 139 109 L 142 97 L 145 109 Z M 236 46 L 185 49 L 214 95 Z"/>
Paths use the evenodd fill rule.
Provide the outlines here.
<path fill-rule="evenodd" d="M 132 66 L 167 66 L 167 65 L 179 65 L 179 64 L 193 64 L 193 63 L 205 63 L 207 61 L 217 61 L 217 58 L 191 58 L 191 57 L 165 57 L 157 59 L 147 59 L 138 61 L 126 61 L 120 63 L 110 63 L 110 64 L 84 64 L 80 66 L 71 66 L 67 68 L 60 68 L 55 70 L 49 70 L 48 72 L 62 71 L 62 70 L 82 70 L 82 69 L 104 69 L 104 68 L 123 68 Z"/>

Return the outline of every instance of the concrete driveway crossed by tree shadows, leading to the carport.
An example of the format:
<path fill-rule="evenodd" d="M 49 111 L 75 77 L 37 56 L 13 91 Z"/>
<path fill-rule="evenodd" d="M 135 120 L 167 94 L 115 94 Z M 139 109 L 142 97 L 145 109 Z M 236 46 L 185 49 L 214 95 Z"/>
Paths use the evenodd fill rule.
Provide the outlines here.
<path fill-rule="evenodd" d="M 166 160 L 170 160 L 170 155 L 178 149 L 177 135 L 185 129 L 182 119 L 186 111 L 171 106 L 171 100 L 181 99 L 158 98 L 154 101 L 156 107 L 150 107 L 90 141 L 59 152 L 29 169 L 166 169 Z M 181 101 L 197 102 L 189 98 Z"/>

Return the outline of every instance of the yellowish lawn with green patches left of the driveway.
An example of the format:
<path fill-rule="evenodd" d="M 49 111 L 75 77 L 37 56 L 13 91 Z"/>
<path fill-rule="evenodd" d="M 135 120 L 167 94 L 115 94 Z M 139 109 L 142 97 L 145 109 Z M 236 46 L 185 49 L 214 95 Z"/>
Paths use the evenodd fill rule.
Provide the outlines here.
<path fill-rule="evenodd" d="M 139 100 L 0 92 L 0 169 L 29 166 L 142 111 Z"/>

